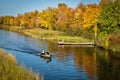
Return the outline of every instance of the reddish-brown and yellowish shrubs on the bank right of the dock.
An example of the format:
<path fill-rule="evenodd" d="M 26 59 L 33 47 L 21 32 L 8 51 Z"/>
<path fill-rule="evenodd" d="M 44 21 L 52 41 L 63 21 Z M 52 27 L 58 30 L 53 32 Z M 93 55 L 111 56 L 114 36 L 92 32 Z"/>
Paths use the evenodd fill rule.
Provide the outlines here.
<path fill-rule="evenodd" d="M 105 36 L 98 37 L 98 46 L 101 46 L 105 49 L 110 49 L 113 52 L 120 52 L 120 29 L 116 29 L 113 34 L 109 36 L 108 42 L 109 46 L 106 47 Z"/>

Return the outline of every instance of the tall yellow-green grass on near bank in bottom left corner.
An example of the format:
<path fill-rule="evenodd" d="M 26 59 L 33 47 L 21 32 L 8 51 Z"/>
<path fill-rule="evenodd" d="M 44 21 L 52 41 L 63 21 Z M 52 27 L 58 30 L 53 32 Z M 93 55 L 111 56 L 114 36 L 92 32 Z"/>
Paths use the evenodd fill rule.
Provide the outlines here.
<path fill-rule="evenodd" d="M 39 75 L 18 66 L 11 54 L 0 49 L 0 80 L 40 80 Z"/>

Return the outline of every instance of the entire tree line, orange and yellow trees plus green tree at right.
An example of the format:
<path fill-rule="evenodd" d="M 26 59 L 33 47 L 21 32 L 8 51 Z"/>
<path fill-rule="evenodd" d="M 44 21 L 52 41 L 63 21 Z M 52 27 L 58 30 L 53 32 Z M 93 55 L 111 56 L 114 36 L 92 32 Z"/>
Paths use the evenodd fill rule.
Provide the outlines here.
<path fill-rule="evenodd" d="M 48 7 L 41 12 L 34 10 L 14 16 L 1 16 L 0 24 L 22 26 L 25 29 L 44 28 L 82 35 L 98 31 L 109 36 L 120 27 L 120 0 L 101 0 L 99 4 L 80 3 L 75 9 L 65 3 L 57 8 Z"/>

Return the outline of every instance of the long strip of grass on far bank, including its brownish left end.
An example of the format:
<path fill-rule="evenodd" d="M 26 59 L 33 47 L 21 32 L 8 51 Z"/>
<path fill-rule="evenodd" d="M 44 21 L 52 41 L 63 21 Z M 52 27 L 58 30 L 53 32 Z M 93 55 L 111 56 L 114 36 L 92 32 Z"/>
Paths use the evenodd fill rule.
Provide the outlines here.
<path fill-rule="evenodd" d="M 48 40 L 55 40 L 56 42 L 64 40 L 65 42 L 91 42 L 93 40 L 85 39 L 78 36 L 70 36 L 64 32 L 60 31 L 53 31 L 53 30 L 46 30 L 41 28 L 34 28 L 34 29 L 23 29 L 21 26 L 3 26 L 4 30 L 9 30 L 17 33 L 21 33 L 23 35 L 27 35 L 34 38 L 40 39 L 48 39 Z"/>

